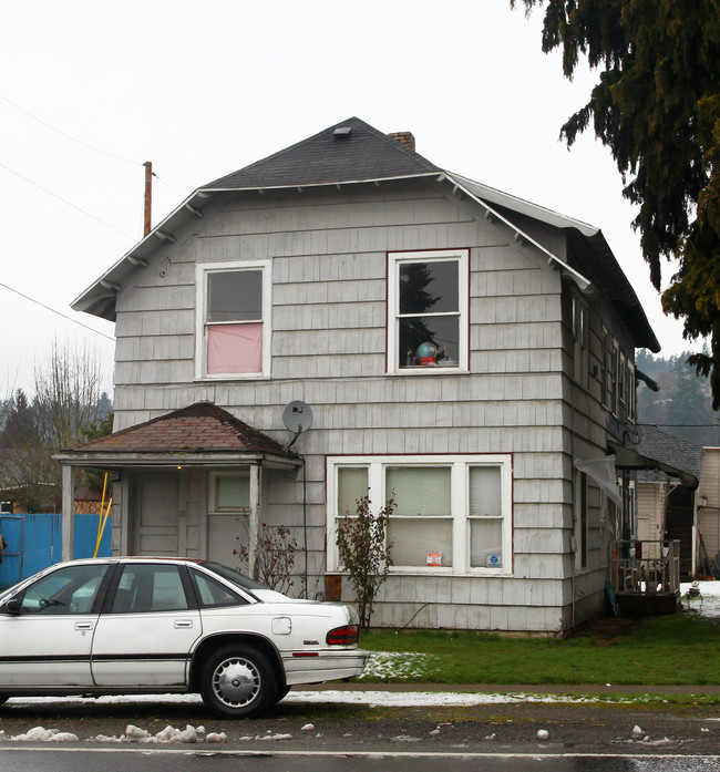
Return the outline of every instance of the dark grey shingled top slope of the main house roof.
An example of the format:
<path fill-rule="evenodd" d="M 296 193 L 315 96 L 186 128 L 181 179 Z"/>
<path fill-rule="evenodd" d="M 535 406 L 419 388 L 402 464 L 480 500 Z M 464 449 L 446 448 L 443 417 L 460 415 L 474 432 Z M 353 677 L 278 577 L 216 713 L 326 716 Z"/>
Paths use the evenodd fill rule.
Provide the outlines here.
<path fill-rule="evenodd" d="M 336 128 L 349 134 L 336 136 Z M 327 185 L 391 179 L 442 169 L 358 117 L 336 123 L 319 134 L 274 153 L 202 189 L 241 189 Z"/>

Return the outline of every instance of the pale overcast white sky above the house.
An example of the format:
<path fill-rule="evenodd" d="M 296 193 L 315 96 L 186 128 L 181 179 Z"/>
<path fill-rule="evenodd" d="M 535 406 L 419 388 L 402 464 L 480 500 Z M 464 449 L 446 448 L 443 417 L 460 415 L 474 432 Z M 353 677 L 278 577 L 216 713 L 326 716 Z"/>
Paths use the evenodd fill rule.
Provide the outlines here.
<path fill-rule="evenodd" d="M 352 115 L 600 227 L 662 352 L 689 348 L 609 152 L 558 141 L 595 75 L 567 82 L 541 22 L 508 0 L 1 0 L 0 282 L 96 332 L 0 286 L 0 397 L 32 391 L 53 339 L 95 348 L 111 388 L 113 325 L 69 306 L 141 238 L 144 161 L 156 225 L 196 187 Z"/>

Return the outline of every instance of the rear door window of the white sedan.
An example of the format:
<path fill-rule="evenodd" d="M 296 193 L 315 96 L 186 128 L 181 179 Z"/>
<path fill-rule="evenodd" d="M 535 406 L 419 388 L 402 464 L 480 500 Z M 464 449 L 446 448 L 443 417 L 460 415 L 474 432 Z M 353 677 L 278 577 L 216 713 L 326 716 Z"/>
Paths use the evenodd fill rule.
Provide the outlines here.
<path fill-rule="evenodd" d="M 123 568 L 111 613 L 183 611 L 188 607 L 178 566 L 141 563 Z"/>

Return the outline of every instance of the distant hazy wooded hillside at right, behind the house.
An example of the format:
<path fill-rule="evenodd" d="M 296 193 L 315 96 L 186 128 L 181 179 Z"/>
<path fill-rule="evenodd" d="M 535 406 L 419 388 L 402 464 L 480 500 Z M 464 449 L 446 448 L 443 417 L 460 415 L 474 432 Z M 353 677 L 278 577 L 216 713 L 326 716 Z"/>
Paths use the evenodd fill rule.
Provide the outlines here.
<path fill-rule="evenodd" d="M 701 445 L 720 446 L 720 414 L 712 410 L 707 378 L 686 364 L 690 352 L 668 359 L 638 351 L 636 364 L 660 387 L 651 391 L 638 384 L 638 422 L 651 423 L 670 434 Z"/>

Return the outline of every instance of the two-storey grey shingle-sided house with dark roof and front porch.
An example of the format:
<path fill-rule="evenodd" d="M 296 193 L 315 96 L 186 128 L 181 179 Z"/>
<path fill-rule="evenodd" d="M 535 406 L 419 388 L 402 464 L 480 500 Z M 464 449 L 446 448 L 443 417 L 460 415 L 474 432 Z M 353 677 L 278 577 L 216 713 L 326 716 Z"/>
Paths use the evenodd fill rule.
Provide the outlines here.
<path fill-rule="evenodd" d="M 397 501 L 373 624 L 604 609 L 659 344 L 597 228 L 350 119 L 195 191 L 73 308 L 115 321 L 115 433 L 58 456 L 63 490 L 114 473 L 116 552 L 233 562 L 284 524 L 307 594 L 351 598 L 336 528 L 369 490 Z"/>

